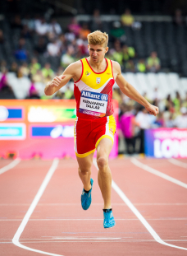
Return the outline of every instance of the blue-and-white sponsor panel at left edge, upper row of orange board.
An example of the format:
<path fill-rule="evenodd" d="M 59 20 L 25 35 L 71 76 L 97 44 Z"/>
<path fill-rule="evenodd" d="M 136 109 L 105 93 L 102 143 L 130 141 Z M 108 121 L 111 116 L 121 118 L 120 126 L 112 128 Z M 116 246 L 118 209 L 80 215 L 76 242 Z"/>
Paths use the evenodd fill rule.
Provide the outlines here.
<path fill-rule="evenodd" d="M 23 109 L 22 108 L 8 108 L 5 106 L 0 106 L 0 122 L 6 120 L 21 120 L 23 119 Z"/>

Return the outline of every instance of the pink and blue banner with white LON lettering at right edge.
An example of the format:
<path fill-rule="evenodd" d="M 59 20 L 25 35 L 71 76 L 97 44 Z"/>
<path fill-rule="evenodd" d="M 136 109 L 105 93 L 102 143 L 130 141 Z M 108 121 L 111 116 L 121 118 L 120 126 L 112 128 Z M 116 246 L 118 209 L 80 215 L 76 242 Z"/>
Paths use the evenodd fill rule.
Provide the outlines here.
<path fill-rule="evenodd" d="M 187 129 L 145 130 L 145 155 L 156 158 L 187 157 Z"/>

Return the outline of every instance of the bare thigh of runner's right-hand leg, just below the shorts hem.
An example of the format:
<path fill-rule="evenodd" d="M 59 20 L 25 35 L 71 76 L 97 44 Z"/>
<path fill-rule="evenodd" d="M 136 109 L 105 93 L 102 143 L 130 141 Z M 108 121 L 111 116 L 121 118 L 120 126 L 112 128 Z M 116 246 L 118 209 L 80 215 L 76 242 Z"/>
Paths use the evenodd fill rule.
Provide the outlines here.
<path fill-rule="evenodd" d="M 112 151 L 112 146 L 112 140 L 107 137 L 103 137 L 103 139 L 98 143 L 97 159 L 101 156 L 108 157 L 110 152 Z"/>

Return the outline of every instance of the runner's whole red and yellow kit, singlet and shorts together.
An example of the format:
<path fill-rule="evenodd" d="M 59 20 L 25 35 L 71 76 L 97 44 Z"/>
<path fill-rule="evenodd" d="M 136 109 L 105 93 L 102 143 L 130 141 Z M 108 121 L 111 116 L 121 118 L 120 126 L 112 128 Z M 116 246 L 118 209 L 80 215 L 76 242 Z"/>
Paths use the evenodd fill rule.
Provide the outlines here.
<path fill-rule="evenodd" d="M 103 137 L 114 139 L 116 122 L 113 118 L 112 86 L 115 83 L 112 61 L 105 58 L 105 71 L 97 73 L 87 58 L 81 59 L 82 74 L 75 81 L 76 100 L 75 154 L 89 156 Z"/>

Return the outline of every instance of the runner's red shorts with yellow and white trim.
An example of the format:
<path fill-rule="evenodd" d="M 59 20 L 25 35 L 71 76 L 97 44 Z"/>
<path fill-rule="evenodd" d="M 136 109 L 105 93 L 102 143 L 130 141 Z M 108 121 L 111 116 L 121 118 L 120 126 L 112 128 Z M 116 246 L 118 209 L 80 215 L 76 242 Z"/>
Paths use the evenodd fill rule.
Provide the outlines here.
<path fill-rule="evenodd" d="M 89 156 L 98 147 L 103 137 L 114 141 L 116 121 L 112 115 L 100 119 L 80 119 L 76 117 L 74 127 L 75 154 Z"/>

